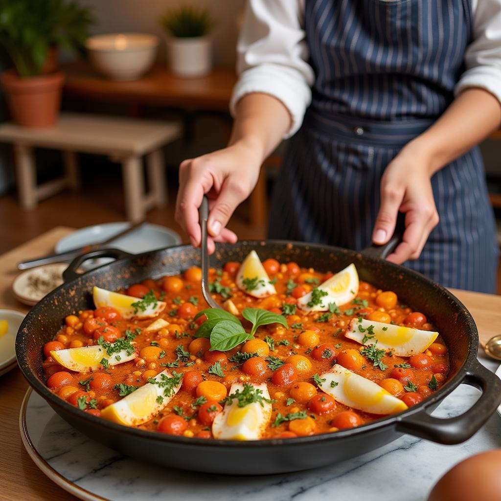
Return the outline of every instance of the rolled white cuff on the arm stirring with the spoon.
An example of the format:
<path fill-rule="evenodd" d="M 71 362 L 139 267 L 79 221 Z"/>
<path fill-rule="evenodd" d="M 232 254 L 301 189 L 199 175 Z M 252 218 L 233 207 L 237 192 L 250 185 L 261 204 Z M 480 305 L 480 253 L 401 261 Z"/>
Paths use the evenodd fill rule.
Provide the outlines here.
<path fill-rule="evenodd" d="M 311 102 L 311 89 L 297 70 L 278 64 L 266 63 L 249 68 L 240 74 L 229 110 L 235 115 L 236 103 L 246 94 L 261 92 L 277 98 L 289 110 L 292 125 L 284 138 L 295 134 L 303 123 L 306 108 Z"/>

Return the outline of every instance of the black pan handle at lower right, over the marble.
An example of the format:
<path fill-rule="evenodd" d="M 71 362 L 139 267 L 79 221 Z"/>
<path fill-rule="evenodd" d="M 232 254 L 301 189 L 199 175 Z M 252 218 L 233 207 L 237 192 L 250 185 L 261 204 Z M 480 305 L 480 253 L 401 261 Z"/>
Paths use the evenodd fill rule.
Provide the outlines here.
<path fill-rule="evenodd" d="M 461 443 L 473 436 L 501 402 L 501 380 L 475 360 L 461 383 L 482 392 L 467 411 L 459 416 L 439 418 L 430 416 L 425 408 L 409 417 L 402 417 L 397 423 L 397 431 L 446 445 Z"/>

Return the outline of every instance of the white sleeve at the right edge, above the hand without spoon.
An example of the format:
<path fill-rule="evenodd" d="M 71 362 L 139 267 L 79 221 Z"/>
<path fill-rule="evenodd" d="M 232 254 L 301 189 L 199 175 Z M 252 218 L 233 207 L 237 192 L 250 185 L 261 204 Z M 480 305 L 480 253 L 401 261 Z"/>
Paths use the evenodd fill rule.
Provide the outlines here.
<path fill-rule="evenodd" d="M 473 41 L 466 49 L 466 71 L 456 96 L 468 87 L 480 87 L 501 102 L 501 0 L 472 0 Z"/>

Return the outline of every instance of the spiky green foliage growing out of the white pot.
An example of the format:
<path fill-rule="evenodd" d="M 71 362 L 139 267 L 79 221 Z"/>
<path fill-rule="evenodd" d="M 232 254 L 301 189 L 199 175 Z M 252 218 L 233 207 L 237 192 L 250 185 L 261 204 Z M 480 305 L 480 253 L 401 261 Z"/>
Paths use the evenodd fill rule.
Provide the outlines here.
<path fill-rule="evenodd" d="M 167 11 L 160 23 L 176 38 L 203 37 L 214 26 L 214 20 L 207 9 L 187 5 Z"/>

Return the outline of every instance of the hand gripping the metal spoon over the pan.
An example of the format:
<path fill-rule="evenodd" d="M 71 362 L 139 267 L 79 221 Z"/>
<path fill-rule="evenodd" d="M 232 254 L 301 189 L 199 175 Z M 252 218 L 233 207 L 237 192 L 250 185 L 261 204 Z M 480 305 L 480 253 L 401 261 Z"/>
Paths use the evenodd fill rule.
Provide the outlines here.
<path fill-rule="evenodd" d="M 209 254 L 214 252 L 215 241 L 236 242 L 236 234 L 225 226 L 236 206 L 256 186 L 261 163 L 259 150 L 244 142 L 181 163 L 175 219 L 193 246 L 200 245 L 198 207 L 204 194 L 209 198 Z"/>

